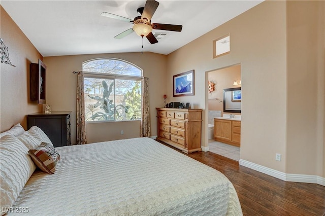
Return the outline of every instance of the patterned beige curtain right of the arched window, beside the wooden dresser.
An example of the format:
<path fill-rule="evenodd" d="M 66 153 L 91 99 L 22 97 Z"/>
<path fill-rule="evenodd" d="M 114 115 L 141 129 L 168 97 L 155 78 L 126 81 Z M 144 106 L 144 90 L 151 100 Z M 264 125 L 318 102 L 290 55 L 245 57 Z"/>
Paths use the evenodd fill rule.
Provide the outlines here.
<path fill-rule="evenodd" d="M 149 78 L 144 77 L 142 83 L 142 119 L 140 127 L 141 137 L 150 137 L 150 108 L 149 108 Z"/>

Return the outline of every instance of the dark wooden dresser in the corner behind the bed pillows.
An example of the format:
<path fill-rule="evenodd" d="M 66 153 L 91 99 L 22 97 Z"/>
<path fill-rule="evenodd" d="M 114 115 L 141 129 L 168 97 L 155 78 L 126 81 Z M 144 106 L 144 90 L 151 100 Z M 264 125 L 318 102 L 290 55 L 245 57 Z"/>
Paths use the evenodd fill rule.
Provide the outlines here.
<path fill-rule="evenodd" d="M 71 145 L 70 111 L 27 115 L 28 129 L 36 125 L 50 138 L 54 147 Z"/>

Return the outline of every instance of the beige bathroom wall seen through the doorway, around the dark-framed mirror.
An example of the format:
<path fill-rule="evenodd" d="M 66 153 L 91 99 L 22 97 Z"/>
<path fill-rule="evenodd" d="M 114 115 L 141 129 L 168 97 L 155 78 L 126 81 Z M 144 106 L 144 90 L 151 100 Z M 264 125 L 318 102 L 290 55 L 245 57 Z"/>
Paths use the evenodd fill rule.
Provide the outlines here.
<path fill-rule="evenodd" d="M 208 93 L 208 110 L 218 110 L 223 114 L 223 89 L 241 87 L 241 85 L 233 86 L 234 80 L 237 80 L 238 84 L 241 80 L 240 70 L 241 66 L 237 64 L 208 73 L 208 80 L 215 83 L 215 90 Z"/>

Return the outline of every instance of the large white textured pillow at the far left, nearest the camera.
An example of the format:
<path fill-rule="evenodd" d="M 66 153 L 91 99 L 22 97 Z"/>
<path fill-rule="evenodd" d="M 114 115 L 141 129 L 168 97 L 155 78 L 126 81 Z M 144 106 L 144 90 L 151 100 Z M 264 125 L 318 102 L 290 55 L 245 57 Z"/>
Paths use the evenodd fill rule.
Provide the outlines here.
<path fill-rule="evenodd" d="M 1 215 L 12 207 L 36 166 L 28 155 L 28 149 L 15 136 L 6 135 L 0 140 L 1 166 Z"/>

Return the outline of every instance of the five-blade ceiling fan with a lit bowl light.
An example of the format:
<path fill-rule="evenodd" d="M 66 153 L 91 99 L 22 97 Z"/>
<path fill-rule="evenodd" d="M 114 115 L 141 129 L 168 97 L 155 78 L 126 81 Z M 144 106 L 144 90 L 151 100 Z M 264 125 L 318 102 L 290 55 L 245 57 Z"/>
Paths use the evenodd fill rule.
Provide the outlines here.
<path fill-rule="evenodd" d="M 132 28 L 129 28 L 123 31 L 122 33 L 117 34 L 114 38 L 121 39 L 135 31 L 142 38 L 146 37 L 150 44 L 155 44 L 158 41 L 151 32 L 152 29 L 182 31 L 183 27 L 182 25 L 151 23 L 151 17 L 156 11 L 158 5 L 159 3 L 154 0 L 147 0 L 145 6 L 138 8 L 137 10 L 138 14 L 140 14 L 141 16 L 135 17 L 134 20 L 107 12 L 103 12 L 101 15 L 134 24 Z"/>

